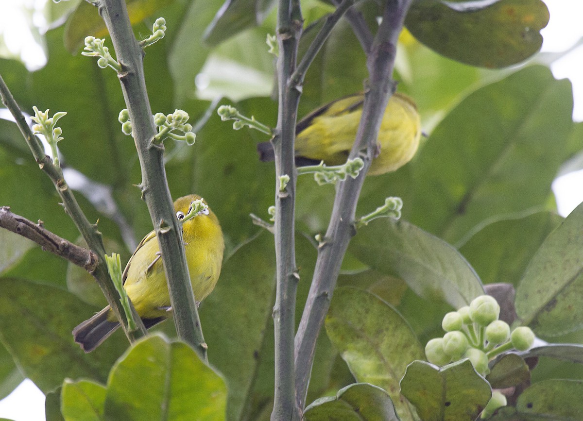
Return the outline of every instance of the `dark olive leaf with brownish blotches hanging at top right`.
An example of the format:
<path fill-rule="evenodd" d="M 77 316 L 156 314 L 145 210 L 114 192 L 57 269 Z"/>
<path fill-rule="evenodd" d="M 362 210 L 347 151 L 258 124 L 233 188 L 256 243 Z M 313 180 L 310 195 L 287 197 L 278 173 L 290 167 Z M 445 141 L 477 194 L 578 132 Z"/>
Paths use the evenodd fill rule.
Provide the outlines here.
<path fill-rule="evenodd" d="M 474 66 L 501 68 L 539 51 L 549 22 L 540 0 L 414 2 L 405 24 L 428 47 Z"/>

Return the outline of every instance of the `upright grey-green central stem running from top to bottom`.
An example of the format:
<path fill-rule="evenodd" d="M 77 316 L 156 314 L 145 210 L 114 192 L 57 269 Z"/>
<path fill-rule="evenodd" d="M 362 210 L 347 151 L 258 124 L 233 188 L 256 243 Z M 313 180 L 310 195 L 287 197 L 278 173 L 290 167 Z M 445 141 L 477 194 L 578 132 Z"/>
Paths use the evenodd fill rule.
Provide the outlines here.
<path fill-rule="evenodd" d="M 276 136 L 272 139 L 276 176 L 273 215 L 276 257 L 276 296 L 273 307 L 275 396 L 271 414 L 273 421 L 300 419 L 300 409 L 297 408 L 294 398 L 296 290 L 300 278 L 296 268 L 294 234 L 297 178 L 294 140 L 301 90 L 289 81 L 296 68 L 297 48 L 302 27 L 303 19 L 299 1 L 280 0 L 276 27 L 279 45 L 277 61 L 279 108 Z M 288 181 L 284 183 L 285 180 Z"/>

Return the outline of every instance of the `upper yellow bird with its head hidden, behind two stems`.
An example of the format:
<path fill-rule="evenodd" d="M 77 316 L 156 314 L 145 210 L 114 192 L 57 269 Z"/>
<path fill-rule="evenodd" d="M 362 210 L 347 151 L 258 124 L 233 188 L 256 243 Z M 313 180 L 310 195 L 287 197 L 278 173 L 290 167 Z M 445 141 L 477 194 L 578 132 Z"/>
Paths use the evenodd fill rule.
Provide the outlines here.
<path fill-rule="evenodd" d="M 363 101 L 363 93 L 347 96 L 312 111 L 298 122 L 296 164 L 345 163 L 356 138 Z M 378 176 L 401 168 L 417 152 L 420 138 L 421 122 L 415 102 L 402 93 L 393 94 L 378 132 L 378 154 L 368 174 Z M 259 143 L 257 150 L 262 161 L 273 160 L 270 142 Z"/>

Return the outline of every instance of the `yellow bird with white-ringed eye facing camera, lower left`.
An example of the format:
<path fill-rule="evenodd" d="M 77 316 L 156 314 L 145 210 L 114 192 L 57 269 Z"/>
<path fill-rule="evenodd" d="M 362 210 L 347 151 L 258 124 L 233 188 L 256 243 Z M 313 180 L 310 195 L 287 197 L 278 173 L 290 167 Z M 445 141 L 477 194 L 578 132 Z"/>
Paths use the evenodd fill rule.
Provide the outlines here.
<path fill-rule="evenodd" d="M 187 215 L 191 202 L 201 199 L 192 194 L 174 202 L 178 219 Z M 216 285 L 223 262 L 223 231 L 219 220 L 209 209 L 182 224 L 182 238 L 188 262 L 188 272 L 197 303 L 205 299 Z M 170 295 L 160 256 L 156 233 L 143 238 L 129 259 L 122 275 L 124 289 L 146 328 L 161 322 L 170 315 Z M 75 342 L 85 352 L 90 352 L 103 342 L 120 323 L 107 306 L 89 320 L 73 329 Z"/>

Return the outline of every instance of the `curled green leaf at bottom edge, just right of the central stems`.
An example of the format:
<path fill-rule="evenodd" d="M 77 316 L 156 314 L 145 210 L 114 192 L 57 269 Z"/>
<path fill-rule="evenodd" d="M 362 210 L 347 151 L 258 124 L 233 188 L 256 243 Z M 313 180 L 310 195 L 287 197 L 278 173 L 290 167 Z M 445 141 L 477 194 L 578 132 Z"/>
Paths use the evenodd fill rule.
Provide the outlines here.
<path fill-rule="evenodd" d="M 320 398 L 305 408 L 305 421 L 398 421 L 384 389 L 355 383 L 340 389 L 335 397 Z"/>

